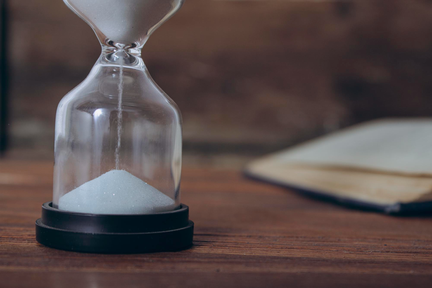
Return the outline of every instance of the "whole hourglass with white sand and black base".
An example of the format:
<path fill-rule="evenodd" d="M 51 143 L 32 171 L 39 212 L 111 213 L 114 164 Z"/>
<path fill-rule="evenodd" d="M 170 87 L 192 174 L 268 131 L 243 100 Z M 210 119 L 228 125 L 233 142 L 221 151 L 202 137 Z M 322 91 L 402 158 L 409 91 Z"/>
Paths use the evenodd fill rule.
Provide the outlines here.
<path fill-rule="evenodd" d="M 53 201 L 42 206 L 37 241 L 100 253 L 187 247 L 194 223 L 180 203 L 181 114 L 141 59 L 183 0 L 64 2 L 93 28 L 102 54 L 58 105 Z"/>

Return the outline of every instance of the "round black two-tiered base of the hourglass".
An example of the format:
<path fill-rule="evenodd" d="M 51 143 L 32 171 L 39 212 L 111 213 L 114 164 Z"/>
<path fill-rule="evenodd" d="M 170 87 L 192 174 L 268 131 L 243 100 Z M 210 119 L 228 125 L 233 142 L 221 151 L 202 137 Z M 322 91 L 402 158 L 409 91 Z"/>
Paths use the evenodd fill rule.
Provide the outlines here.
<path fill-rule="evenodd" d="M 171 212 L 102 215 L 63 211 L 42 205 L 36 220 L 36 240 L 61 250 L 90 253 L 176 251 L 192 244 L 194 222 L 189 207 Z"/>

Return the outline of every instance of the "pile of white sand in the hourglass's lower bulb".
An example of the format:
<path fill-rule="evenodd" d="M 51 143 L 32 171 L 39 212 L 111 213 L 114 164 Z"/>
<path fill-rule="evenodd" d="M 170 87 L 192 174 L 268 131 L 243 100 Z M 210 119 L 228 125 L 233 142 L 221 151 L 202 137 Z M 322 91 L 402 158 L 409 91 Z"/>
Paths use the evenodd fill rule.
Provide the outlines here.
<path fill-rule="evenodd" d="M 124 170 L 111 170 L 60 197 L 58 209 L 92 214 L 175 210 L 175 201 Z"/>

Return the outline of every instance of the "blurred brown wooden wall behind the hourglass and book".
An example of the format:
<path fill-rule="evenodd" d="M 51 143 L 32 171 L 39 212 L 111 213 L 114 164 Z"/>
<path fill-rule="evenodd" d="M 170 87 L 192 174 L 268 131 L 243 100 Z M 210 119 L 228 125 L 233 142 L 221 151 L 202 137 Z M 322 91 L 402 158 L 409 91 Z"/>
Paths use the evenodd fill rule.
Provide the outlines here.
<path fill-rule="evenodd" d="M 61 0 L 8 6 L 7 155 L 52 158 L 57 104 L 100 46 Z M 187 159 L 241 165 L 359 121 L 430 116 L 432 1 L 186 0 L 143 58 L 182 111 Z"/>

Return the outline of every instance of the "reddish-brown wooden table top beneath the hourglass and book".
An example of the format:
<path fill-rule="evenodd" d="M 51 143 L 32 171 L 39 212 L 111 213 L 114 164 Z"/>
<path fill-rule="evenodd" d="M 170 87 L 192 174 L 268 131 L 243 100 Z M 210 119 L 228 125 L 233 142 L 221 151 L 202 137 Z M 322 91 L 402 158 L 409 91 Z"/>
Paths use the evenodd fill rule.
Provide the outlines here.
<path fill-rule="evenodd" d="M 0 287 L 431 287 L 432 218 L 346 209 L 184 168 L 194 245 L 175 253 L 68 252 L 35 241 L 52 163 L 0 161 Z"/>

